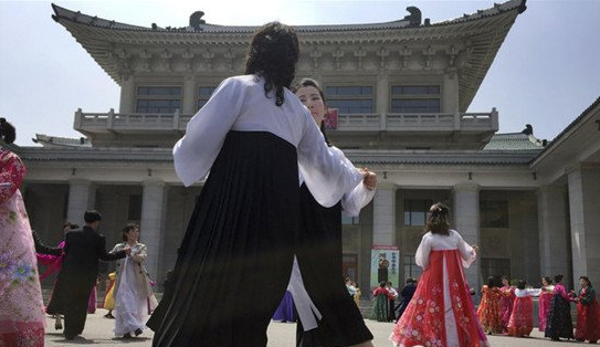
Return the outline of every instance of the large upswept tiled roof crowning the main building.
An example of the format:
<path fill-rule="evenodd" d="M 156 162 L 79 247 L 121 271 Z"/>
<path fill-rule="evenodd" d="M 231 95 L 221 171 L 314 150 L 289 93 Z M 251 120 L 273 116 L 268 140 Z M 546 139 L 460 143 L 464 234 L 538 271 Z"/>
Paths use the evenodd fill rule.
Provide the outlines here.
<path fill-rule="evenodd" d="M 465 112 L 515 18 L 525 10 L 525 1 L 509 0 L 487 10 L 433 24 L 420 24 L 420 19 L 419 24 L 414 24 L 404 18 L 383 23 L 296 25 L 294 28 L 298 32 L 302 45 L 315 48 L 350 44 L 365 49 L 368 49 L 368 45 L 389 45 L 390 50 L 398 50 L 414 42 L 418 43 L 417 46 L 419 44 L 430 46 L 440 42 L 459 40 L 466 45 L 463 48 L 463 53 L 469 52 L 457 74 L 459 108 Z M 129 48 L 148 48 L 160 51 L 166 56 L 170 56 L 168 50 L 179 50 L 187 52 L 187 56 L 198 57 L 202 56 L 202 52 L 206 53 L 208 49 L 215 46 L 235 49 L 241 52 L 245 50 L 252 33 L 257 28 L 210 23 L 200 23 L 196 27 L 197 29 L 192 27 L 160 28 L 155 24 L 139 27 L 74 12 L 55 4 L 53 9 L 53 19 L 65 27 L 118 84 L 122 83 L 123 75 L 129 73 L 128 65 L 131 63 L 129 55 L 131 52 L 127 51 Z M 418 49 L 419 52 L 421 50 L 421 48 Z M 236 56 L 240 56 L 240 52 Z M 375 53 L 371 52 L 371 54 Z M 236 67 L 241 69 L 241 65 Z"/>

